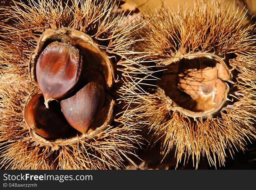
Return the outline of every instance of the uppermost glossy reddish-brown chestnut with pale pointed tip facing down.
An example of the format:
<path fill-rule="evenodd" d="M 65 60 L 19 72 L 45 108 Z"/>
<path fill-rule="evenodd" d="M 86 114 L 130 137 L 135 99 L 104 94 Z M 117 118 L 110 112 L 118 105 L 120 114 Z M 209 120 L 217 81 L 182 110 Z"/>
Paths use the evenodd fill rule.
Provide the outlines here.
<path fill-rule="evenodd" d="M 79 84 L 83 70 L 81 51 L 70 44 L 54 41 L 40 53 L 36 63 L 36 79 L 45 97 L 45 106 L 61 99 Z"/>

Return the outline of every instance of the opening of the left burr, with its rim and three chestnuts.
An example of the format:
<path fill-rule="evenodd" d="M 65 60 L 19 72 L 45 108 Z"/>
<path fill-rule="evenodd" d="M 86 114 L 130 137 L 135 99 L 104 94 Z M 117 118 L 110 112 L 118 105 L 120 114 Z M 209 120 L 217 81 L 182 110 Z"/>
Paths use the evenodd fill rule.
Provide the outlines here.
<path fill-rule="evenodd" d="M 65 145 L 77 140 L 77 135 L 79 138 L 88 138 L 110 124 L 114 101 L 105 90 L 113 84 L 113 66 L 106 53 L 99 49 L 90 36 L 71 28 L 48 29 L 31 54 L 29 73 L 31 81 L 38 84 L 44 96 L 45 112 L 49 112 L 47 108 L 55 111 L 53 115 L 62 111 L 65 118 L 61 118 L 61 122 L 69 123 L 77 130 L 65 137 L 61 133 L 53 135 L 50 134 L 51 130 L 47 130 L 55 127 L 50 127 L 50 122 L 45 126 L 40 125 L 38 130 L 35 126 L 39 125 L 34 124 L 37 121 L 31 122 L 30 119 L 40 114 L 31 111 L 35 107 L 32 105 L 35 103 L 33 99 L 39 97 L 35 95 L 24 109 L 25 122 L 35 139 L 46 144 Z M 54 104 L 48 103 L 52 100 L 60 102 L 61 109 L 51 108 Z M 42 117 L 48 116 L 44 114 Z M 49 121 L 49 118 L 41 120 Z"/>

